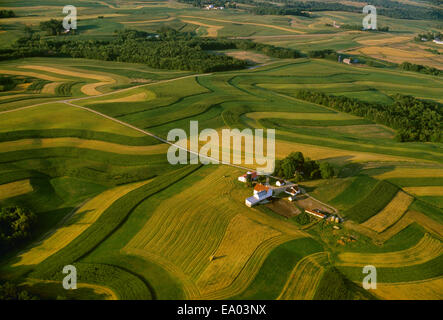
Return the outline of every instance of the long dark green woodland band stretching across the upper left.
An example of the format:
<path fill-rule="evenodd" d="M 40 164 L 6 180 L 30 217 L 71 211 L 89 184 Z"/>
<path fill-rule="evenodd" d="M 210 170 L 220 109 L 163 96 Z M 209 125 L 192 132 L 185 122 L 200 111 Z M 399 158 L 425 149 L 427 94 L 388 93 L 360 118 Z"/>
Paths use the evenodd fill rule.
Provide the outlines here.
<path fill-rule="evenodd" d="M 158 37 L 143 31 L 125 30 L 111 41 L 45 39 L 34 34 L 21 38 L 12 49 L 0 50 L 0 60 L 57 56 L 144 63 L 153 68 L 215 72 L 246 67 L 247 62 L 208 50 L 256 50 L 277 58 L 297 58 L 293 49 L 248 40 L 204 39 L 190 33 L 164 28 Z"/>

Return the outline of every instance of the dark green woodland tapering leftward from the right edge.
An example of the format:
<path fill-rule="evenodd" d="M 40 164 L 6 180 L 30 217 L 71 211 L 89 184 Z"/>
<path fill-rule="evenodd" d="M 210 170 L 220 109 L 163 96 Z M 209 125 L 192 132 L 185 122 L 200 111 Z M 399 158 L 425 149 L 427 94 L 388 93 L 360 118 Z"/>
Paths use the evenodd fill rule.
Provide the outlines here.
<path fill-rule="evenodd" d="M 308 90 L 298 91 L 296 97 L 396 129 L 398 141 L 441 141 L 443 108 L 436 102 L 397 94 L 393 104 L 382 105 Z"/>

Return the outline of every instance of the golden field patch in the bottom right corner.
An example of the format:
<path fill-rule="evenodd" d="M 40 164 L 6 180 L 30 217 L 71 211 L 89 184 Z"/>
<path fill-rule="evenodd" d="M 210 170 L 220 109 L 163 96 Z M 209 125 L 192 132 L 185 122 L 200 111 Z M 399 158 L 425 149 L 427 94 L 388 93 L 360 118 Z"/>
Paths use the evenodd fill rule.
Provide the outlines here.
<path fill-rule="evenodd" d="M 443 300 L 443 278 L 406 283 L 377 283 L 377 289 L 372 292 L 386 300 Z"/>

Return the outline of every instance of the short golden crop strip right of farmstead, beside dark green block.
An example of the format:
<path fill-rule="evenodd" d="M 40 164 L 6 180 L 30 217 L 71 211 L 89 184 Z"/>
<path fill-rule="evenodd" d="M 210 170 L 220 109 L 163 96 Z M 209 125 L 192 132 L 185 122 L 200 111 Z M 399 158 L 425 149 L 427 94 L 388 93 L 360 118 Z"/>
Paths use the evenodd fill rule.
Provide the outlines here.
<path fill-rule="evenodd" d="M 412 201 L 414 201 L 414 197 L 399 191 L 382 211 L 364 222 L 363 226 L 383 232 L 401 218 Z"/>

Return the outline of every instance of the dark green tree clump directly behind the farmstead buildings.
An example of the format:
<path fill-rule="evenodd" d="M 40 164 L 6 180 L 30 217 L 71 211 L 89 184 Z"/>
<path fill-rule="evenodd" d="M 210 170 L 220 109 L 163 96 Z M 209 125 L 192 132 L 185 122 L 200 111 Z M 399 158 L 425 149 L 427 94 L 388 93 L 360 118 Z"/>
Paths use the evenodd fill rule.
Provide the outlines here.
<path fill-rule="evenodd" d="M 330 179 L 334 168 L 328 162 L 317 162 L 306 158 L 301 152 L 292 152 L 283 160 L 275 162 L 274 174 L 296 182 L 313 179 Z"/>

